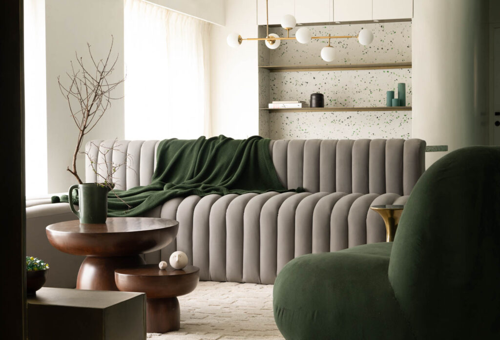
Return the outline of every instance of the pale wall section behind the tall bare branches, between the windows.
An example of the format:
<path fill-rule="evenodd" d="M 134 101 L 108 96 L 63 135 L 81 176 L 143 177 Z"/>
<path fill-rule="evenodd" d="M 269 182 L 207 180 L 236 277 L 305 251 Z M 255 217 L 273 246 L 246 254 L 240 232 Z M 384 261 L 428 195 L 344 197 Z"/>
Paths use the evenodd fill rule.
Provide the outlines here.
<path fill-rule="evenodd" d="M 112 54 L 119 53 L 113 78 L 118 80 L 124 76 L 123 0 L 46 0 L 45 33 L 48 192 L 60 192 L 76 182 L 66 167 L 71 164 L 78 129 L 59 91 L 57 75 L 67 83 L 64 74 L 70 70 L 69 62 L 75 59 L 75 51 L 89 65 L 87 42 L 92 45 L 94 58 L 105 57 L 112 34 Z M 123 86 L 119 86 L 114 96 L 122 95 Z M 115 137 L 123 138 L 123 100 L 112 102 L 96 127 L 85 136 L 84 142 Z M 78 173 L 82 178 L 83 160 L 83 156 L 78 159 Z"/>

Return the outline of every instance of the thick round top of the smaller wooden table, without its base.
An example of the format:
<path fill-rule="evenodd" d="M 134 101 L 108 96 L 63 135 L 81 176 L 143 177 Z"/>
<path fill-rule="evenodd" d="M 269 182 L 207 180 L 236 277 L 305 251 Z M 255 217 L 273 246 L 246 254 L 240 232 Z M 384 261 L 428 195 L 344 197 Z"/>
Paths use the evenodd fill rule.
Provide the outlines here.
<path fill-rule="evenodd" d="M 158 268 L 157 264 L 145 264 L 135 268 L 115 269 L 114 280 L 121 291 L 140 291 L 147 298 L 175 297 L 196 288 L 199 268 L 187 265 L 182 269 Z"/>

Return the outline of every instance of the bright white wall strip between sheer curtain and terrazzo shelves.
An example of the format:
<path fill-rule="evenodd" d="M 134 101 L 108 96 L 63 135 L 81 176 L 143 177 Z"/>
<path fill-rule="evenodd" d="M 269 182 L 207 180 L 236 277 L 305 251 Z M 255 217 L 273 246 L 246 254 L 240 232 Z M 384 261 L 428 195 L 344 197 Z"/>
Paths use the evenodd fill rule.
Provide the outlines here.
<path fill-rule="evenodd" d="M 257 36 L 255 1 L 226 0 L 225 26 L 210 31 L 210 112 L 212 134 L 246 138 L 258 134 L 257 43 L 232 48 L 227 34 Z"/>

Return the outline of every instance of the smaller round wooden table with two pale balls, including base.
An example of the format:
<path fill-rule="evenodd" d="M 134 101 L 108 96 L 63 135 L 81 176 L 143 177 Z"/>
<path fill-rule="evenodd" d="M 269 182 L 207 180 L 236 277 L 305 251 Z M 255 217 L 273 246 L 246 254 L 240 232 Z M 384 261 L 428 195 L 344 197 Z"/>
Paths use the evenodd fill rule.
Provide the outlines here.
<path fill-rule="evenodd" d="M 183 269 L 166 270 L 157 264 L 114 270 L 116 286 L 121 291 L 146 293 L 146 331 L 166 333 L 180 328 L 180 308 L 177 296 L 196 288 L 199 268 L 187 265 Z"/>

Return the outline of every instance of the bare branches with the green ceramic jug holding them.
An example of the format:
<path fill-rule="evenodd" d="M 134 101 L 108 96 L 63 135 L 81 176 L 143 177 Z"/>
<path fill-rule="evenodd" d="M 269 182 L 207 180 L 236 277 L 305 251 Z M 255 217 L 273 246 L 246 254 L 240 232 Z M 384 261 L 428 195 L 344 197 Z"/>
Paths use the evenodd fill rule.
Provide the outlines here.
<path fill-rule="evenodd" d="M 116 55 L 114 61 L 110 58 L 112 47 L 113 40 L 111 36 L 111 46 L 107 56 L 96 61 L 92 55 L 90 44 L 87 43 L 88 54 L 92 61 L 90 67 L 85 66 L 83 59 L 78 57 L 75 52 L 76 68 L 71 61 L 71 72 L 66 73 L 69 78 L 69 85 L 63 85 L 60 77 L 57 77 L 59 89 L 66 98 L 71 117 L 78 127 L 78 137 L 73 152 L 72 164 L 71 167 L 67 167 L 67 171 L 72 173 L 78 182 L 78 184 L 69 188 L 68 199 L 72 211 L 78 216 L 81 223 L 104 223 L 106 221 L 107 193 L 114 187 L 112 173 L 122 165 L 110 164 L 111 169 L 107 172 L 107 177 L 103 178 L 103 181 L 94 183 L 83 183 L 76 171 L 76 156 L 80 152 L 84 135 L 90 132 L 99 122 L 105 111 L 110 107 L 111 101 L 121 98 L 111 96 L 113 90 L 124 81 L 124 79 L 117 81 L 110 79 L 118 59 L 118 55 Z M 113 146 L 107 152 L 114 149 Z M 92 168 L 97 173 L 97 160 L 92 160 L 92 162 Z M 105 163 L 108 166 L 108 161 Z M 72 205 L 73 190 L 75 189 L 78 195 L 78 211 Z"/>

